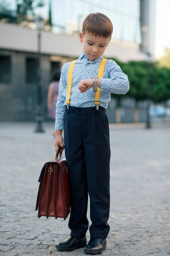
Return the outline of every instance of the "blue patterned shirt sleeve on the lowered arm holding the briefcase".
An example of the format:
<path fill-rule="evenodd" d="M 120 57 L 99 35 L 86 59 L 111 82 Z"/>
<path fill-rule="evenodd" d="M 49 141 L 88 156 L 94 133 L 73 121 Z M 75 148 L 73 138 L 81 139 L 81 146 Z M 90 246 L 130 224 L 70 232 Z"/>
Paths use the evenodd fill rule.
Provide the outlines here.
<path fill-rule="evenodd" d="M 63 116 L 65 112 L 65 96 L 64 89 L 67 87 L 67 81 L 65 79 L 65 64 L 61 69 L 61 76 L 59 79 L 59 96 L 56 104 L 56 122 L 55 130 L 63 130 Z"/>

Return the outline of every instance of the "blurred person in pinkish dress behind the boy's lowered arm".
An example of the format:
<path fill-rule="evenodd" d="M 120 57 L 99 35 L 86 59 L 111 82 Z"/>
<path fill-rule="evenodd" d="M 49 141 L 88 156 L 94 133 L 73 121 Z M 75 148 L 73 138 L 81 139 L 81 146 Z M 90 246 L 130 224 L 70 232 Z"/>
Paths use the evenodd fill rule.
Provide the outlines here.
<path fill-rule="evenodd" d="M 48 87 L 48 95 L 47 95 L 47 105 L 48 105 L 48 117 L 51 119 L 56 118 L 56 103 L 59 94 L 59 79 L 60 79 L 60 71 L 55 71 L 52 75 L 52 82 Z M 53 132 L 55 136 L 55 131 Z"/>

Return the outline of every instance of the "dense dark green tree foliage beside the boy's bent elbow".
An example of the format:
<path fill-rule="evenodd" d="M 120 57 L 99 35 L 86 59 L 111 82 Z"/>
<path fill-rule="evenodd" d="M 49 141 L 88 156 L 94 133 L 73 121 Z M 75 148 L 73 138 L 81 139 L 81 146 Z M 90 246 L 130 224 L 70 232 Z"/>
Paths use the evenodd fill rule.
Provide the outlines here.
<path fill-rule="evenodd" d="M 164 102 L 170 99 L 170 69 L 168 67 L 161 67 L 159 63 L 148 64 L 146 61 L 122 63 L 116 59 L 113 60 L 128 76 L 130 90 L 126 94 L 127 97 L 132 97 L 136 102 L 147 99 L 148 83 L 150 83 L 150 98 L 153 102 Z M 112 96 L 118 100 L 122 97 L 116 94 Z"/>

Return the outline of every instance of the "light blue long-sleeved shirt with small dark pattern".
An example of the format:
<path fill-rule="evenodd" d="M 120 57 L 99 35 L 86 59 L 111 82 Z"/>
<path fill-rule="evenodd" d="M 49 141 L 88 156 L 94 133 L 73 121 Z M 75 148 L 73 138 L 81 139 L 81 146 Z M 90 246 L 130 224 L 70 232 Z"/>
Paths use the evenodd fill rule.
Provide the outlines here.
<path fill-rule="evenodd" d="M 70 106 L 88 108 L 94 107 L 95 93 L 93 88 L 85 93 L 80 93 L 78 86 L 82 79 L 90 79 L 92 76 L 98 76 L 99 65 L 103 56 L 94 61 L 88 62 L 87 56 L 81 52 L 73 71 L 71 86 L 71 103 Z M 61 77 L 59 81 L 59 96 L 56 104 L 56 123 L 55 130 L 63 129 L 63 115 L 65 112 L 67 98 L 67 77 L 70 62 L 62 66 Z M 129 90 L 129 81 L 127 75 L 122 72 L 121 68 L 113 60 L 108 60 L 105 64 L 105 71 L 101 80 L 100 106 L 108 107 L 111 100 L 111 93 L 125 94 Z"/>

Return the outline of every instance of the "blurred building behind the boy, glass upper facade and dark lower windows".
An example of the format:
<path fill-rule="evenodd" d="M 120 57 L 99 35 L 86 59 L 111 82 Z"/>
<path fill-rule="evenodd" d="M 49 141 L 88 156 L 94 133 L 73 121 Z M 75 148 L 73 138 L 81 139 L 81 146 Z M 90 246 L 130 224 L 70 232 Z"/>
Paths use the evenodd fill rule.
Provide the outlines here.
<path fill-rule="evenodd" d="M 105 52 L 106 58 L 113 57 L 125 62 L 145 58 L 139 50 L 139 0 L 33 2 L 33 6 L 24 6 L 22 0 L 6 0 L 9 5 L 3 6 L 3 13 L 8 14 L 7 19 L 7 15 L 2 17 L 0 11 L 0 120 L 23 121 L 34 120 L 35 117 L 37 30 L 34 16 L 40 15 L 45 20 L 41 40 L 42 105 L 45 119 L 51 73 L 60 69 L 65 62 L 79 57 L 82 45 L 79 43 L 78 33 L 82 20 L 88 13 L 102 12 L 113 22 L 113 38 Z M 19 22 L 17 17 L 23 15 L 22 12 L 27 14 L 28 20 Z"/>

